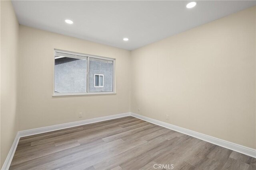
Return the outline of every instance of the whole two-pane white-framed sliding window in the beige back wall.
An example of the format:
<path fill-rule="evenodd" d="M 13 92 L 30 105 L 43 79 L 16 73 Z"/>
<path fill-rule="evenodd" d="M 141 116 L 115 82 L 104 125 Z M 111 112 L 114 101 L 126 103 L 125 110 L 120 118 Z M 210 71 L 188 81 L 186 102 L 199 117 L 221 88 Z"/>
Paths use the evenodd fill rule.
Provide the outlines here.
<path fill-rule="evenodd" d="M 54 96 L 113 94 L 115 59 L 55 50 Z"/>

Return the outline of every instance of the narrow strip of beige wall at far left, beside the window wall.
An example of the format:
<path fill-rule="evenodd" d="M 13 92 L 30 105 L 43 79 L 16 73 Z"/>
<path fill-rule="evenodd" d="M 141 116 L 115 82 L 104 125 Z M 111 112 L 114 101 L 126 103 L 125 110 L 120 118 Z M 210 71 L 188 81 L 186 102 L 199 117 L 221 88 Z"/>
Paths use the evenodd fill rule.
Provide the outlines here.
<path fill-rule="evenodd" d="M 18 131 L 18 29 L 12 3 L 1 1 L 1 167 Z"/>

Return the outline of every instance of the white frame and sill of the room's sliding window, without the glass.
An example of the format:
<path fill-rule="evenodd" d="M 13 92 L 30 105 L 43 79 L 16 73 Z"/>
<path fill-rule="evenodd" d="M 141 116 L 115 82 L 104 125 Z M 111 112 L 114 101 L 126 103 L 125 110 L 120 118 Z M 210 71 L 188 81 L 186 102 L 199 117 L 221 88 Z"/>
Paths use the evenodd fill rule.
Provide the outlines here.
<path fill-rule="evenodd" d="M 70 58 L 78 58 L 78 59 L 84 59 L 84 57 L 87 58 L 87 72 L 86 72 L 86 92 L 64 92 L 64 93 L 56 93 L 55 90 L 55 73 L 53 76 L 53 97 L 61 97 L 61 96 L 87 96 L 87 95 L 106 95 L 106 94 L 116 94 L 116 67 L 115 67 L 115 61 L 116 59 L 109 58 L 109 57 L 101 57 L 101 56 L 96 56 L 96 55 L 88 55 L 88 54 L 82 54 L 82 53 L 76 53 L 76 52 L 71 52 L 71 51 L 64 51 L 64 50 L 59 50 L 59 49 L 54 49 L 54 57 L 53 57 L 53 66 L 54 66 L 54 72 L 55 72 L 55 57 L 56 53 L 62 53 L 65 56 L 68 55 L 75 55 L 73 56 L 68 56 Z M 113 91 L 112 92 L 89 92 L 89 70 L 90 70 L 90 57 L 96 58 L 96 59 L 103 59 L 103 60 L 109 60 L 113 61 L 113 82 L 112 82 L 112 87 Z M 98 74 L 98 75 L 103 75 L 103 74 Z M 103 86 L 96 86 L 96 87 L 104 87 L 104 75 L 103 75 Z M 95 87 L 95 74 L 94 74 L 94 87 Z"/>

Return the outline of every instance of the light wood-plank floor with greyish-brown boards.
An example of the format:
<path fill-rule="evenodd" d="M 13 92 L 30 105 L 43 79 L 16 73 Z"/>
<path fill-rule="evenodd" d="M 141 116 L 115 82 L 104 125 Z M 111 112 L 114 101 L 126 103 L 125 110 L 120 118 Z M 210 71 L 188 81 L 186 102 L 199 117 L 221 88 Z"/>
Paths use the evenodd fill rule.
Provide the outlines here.
<path fill-rule="evenodd" d="M 255 158 L 130 116 L 23 137 L 10 170 L 154 170 L 158 164 L 256 170 Z"/>

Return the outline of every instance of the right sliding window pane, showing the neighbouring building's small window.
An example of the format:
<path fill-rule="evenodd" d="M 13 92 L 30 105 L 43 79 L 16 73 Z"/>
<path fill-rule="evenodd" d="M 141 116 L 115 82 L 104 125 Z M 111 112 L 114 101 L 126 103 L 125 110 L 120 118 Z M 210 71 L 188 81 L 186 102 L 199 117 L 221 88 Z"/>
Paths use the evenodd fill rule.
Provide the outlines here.
<path fill-rule="evenodd" d="M 89 65 L 89 92 L 113 92 L 113 61 L 90 57 Z"/>

